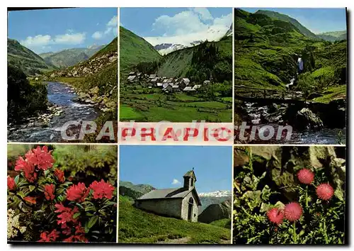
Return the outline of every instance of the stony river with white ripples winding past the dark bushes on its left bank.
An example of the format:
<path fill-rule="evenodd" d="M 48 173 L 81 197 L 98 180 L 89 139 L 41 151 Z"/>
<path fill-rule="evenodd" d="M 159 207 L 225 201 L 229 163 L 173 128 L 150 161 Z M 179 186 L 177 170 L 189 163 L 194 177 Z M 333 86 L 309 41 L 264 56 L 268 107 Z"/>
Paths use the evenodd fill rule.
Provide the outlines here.
<path fill-rule="evenodd" d="M 47 83 L 47 99 L 46 111 L 25 118 L 21 124 L 8 124 L 9 142 L 62 142 L 64 123 L 93 121 L 101 113 L 93 102 L 83 103 L 74 88 L 60 82 Z"/>

